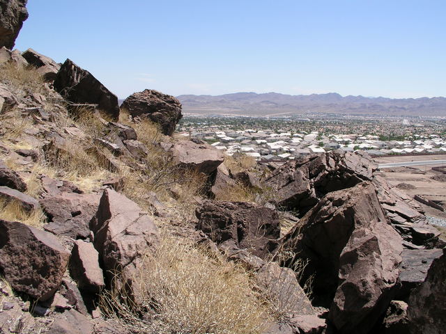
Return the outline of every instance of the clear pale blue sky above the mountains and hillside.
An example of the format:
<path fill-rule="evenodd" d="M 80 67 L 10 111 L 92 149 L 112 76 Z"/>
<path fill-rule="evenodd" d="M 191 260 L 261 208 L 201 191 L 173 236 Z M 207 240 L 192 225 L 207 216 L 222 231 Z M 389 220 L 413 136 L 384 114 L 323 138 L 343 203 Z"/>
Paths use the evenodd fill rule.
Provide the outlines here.
<path fill-rule="evenodd" d="M 29 0 L 16 41 L 118 97 L 446 95 L 445 0 Z"/>

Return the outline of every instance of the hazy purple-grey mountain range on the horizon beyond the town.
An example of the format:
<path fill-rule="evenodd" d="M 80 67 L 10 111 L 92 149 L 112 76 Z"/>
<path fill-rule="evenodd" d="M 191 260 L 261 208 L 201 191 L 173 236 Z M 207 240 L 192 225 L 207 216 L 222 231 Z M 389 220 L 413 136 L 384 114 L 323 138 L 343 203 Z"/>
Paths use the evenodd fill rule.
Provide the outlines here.
<path fill-rule="evenodd" d="M 233 93 L 180 95 L 183 113 L 233 116 L 289 116 L 302 113 L 340 113 L 376 116 L 446 116 L 445 97 L 390 99 L 341 96 L 337 93 L 285 95 Z"/>

